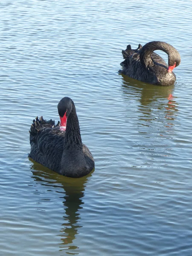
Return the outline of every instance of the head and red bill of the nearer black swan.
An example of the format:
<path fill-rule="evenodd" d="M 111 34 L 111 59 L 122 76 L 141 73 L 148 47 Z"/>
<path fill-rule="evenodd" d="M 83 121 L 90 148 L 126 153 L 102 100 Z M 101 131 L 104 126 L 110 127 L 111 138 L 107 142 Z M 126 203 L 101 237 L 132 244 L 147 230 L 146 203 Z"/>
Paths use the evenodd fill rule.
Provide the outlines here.
<path fill-rule="evenodd" d="M 67 127 L 67 118 L 71 113 L 72 110 L 72 99 L 69 97 L 64 97 L 63 99 L 60 100 L 58 103 L 58 114 L 61 120 L 60 124 L 60 131 L 65 131 Z"/>

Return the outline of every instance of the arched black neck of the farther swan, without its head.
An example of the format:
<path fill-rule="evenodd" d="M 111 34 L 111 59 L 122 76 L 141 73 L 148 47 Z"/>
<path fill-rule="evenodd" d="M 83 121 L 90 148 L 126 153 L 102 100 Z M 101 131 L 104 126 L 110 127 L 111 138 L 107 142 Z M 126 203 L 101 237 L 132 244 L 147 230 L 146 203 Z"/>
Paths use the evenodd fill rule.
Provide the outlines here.
<path fill-rule="evenodd" d="M 151 59 L 151 54 L 155 50 L 161 50 L 163 52 L 166 52 L 166 54 L 168 54 L 168 62 L 170 62 L 170 56 L 175 52 L 177 52 L 177 50 L 174 47 L 172 47 L 170 44 L 167 44 L 165 42 L 161 42 L 161 41 L 149 42 L 148 44 L 145 44 L 140 49 L 140 61 L 145 68 L 154 65 Z"/>

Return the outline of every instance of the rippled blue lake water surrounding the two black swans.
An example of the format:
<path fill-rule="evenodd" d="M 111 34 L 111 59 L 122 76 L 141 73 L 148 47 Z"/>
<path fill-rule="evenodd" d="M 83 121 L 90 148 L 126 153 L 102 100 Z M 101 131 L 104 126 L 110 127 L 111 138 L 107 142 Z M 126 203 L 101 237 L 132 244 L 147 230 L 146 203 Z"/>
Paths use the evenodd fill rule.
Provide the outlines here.
<path fill-rule="evenodd" d="M 2 0 L 0 255 L 192 255 L 192 4 Z M 174 86 L 118 74 L 121 51 L 166 41 Z M 167 60 L 167 55 L 163 54 Z M 71 179 L 28 159 L 35 116 L 76 105 L 95 159 Z"/>

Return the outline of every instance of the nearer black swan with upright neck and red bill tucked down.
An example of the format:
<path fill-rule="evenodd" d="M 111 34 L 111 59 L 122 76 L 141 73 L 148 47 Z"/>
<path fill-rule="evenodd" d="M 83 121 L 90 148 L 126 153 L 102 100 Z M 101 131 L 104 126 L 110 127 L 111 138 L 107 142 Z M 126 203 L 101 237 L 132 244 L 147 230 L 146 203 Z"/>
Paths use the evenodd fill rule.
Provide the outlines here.
<path fill-rule="evenodd" d="M 67 177 L 82 177 L 95 166 L 93 156 L 82 144 L 79 120 L 72 99 L 64 97 L 58 103 L 61 119 L 57 125 L 43 116 L 33 120 L 30 133 L 29 157 Z"/>

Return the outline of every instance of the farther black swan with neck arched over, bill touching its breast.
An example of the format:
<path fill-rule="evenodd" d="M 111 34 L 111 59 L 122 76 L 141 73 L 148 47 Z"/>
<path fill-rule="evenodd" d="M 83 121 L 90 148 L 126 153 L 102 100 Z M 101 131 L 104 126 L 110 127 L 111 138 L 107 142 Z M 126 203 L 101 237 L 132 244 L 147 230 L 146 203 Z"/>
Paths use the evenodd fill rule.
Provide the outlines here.
<path fill-rule="evenodd" d="M 155 50 L 162 50 L 168 54 L 168 65 Z M 122 50 L 125 61 L 121 63 L 120 73 L 131 78 L 146 82 L 149 84 L 171 85 L 176 80 L 172 70 L 180 64 L 180 54 L 170 44 L 161 41 L 152 41 L 143 47 L 139 44 L 137 49 Z"/>

